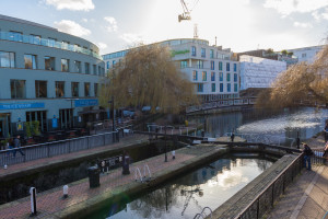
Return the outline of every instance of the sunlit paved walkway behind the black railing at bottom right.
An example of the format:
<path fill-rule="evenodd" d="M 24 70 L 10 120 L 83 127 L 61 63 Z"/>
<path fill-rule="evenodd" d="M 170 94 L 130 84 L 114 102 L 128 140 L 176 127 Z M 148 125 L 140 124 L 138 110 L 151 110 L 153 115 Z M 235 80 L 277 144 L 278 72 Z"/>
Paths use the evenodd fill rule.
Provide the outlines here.
<path fill-rule="evenodd" d="M 313 149 L 323 149 L 324 139 L 318 137 L 307 143 Z M 328 166 L 315 165 L 304 170 L 291 184 L 268 215 L 268 219 L 321 219 L 328 211 Z M 326 217 L 328 218 L 328 217 Z"/>

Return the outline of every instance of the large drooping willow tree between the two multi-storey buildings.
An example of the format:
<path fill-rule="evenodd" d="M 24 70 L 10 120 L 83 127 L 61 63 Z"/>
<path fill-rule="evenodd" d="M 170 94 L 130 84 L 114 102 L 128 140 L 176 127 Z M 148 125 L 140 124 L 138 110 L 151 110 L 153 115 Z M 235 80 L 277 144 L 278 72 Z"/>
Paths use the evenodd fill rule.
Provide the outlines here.
<path fill-rule="evenodd" d="M 114 96 L 116 107 L 151 106 L 151 112 L 178 113 L 197 102 L 195 87 L 161 45 L 139 46 L 108 73 L 101 102 Z"/>

